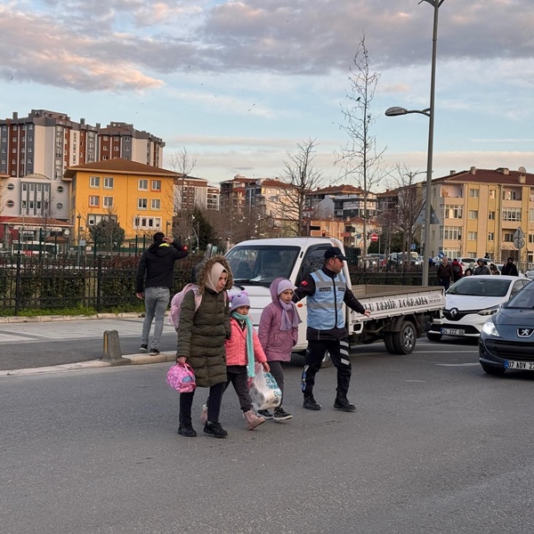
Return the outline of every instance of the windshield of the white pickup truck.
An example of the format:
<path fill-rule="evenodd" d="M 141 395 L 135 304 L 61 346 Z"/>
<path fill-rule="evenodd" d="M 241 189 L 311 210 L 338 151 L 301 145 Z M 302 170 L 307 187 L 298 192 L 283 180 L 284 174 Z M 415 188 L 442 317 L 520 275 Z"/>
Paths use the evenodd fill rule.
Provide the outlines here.
<path fill-rule="evenodd" d="M 289 278 L 299 252 L 299 247 L 268 247 L 258 243 L 233 247 L 226 259 L 237 282 L 269 287 L 273 279 Z"/>

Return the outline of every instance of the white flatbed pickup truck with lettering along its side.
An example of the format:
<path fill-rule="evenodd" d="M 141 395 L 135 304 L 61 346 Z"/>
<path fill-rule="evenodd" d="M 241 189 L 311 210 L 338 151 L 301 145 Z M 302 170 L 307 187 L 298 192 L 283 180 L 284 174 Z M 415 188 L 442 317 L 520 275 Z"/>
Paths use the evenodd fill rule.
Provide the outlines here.
<path fill-rule="evenodd" d="M 339 239 L 279 238 L 242 241 L 226 254 L 231 265 L 234 285 L 247 290 L 251 302 L 250 316 L 257 327 L 263 308 L 271 303 L 269 286 L 283 277 L 298 286 L 310 272 L 324 263 L 325 249 L 340 247 Z M 369 344 L 384 340 L 385 348 L 394 354 L 409 354 L 417 337 L 426 332 L 433 317 L 445 306 L 442 287 L 352 286 L 347 265 L 347 284 L 371 315 L 345 309 L 347 328 L 352 343 Z M 295 352 L 306 349 L 306 299 L 296 304 L 303 323 Z"/>

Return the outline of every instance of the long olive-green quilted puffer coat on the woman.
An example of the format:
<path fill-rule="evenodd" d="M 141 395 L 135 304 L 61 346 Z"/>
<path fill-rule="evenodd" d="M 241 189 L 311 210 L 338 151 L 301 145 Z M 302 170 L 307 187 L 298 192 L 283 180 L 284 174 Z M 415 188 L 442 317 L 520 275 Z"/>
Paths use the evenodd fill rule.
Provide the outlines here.
<path fill-rule="evenodd" d="M 223 291 L 206 287 L 197 312 L 193 292 L 183 297 L 176 358 L 187 358 L 198 387 L 226 382 L 224 340 L 230 334 L 230 308 Z"/>

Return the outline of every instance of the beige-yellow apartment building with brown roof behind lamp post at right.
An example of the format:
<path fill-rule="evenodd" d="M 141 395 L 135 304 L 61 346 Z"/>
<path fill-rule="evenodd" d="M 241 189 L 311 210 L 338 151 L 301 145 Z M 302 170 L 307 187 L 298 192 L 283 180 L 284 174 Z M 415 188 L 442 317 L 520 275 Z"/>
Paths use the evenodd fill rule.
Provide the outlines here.
<path fill-rule="evenodd" d="M 523 167 L 451 171 L 433 181 L 432 206 L 440 219 L 431 230 L 433 255 L 534 261 L 534 174 Z M 514 240 L 520 229 L 524 238 Z"/>

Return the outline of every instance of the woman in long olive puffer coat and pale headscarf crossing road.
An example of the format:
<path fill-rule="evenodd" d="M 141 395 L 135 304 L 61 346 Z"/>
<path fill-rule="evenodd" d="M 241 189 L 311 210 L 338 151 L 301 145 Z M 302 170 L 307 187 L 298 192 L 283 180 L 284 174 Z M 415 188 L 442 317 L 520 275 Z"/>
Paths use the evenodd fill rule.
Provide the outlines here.
<path fill-rule="evenodd" d="M 184 295 L 178 326 L 176 361 L 193 368 L 197 387 L 209 388 L 204 433 L 215 438 L 228 435 L 219 416 L 227 381 L 224 341 L 231 336 L 230 308 L 225 292 L 232 282 L 230 266 L 223 256 L 207 260 L 198 273 L 202 299 L 197 307 L 192 289 Z M 197 435 L 191 423 L 194 394 L 180 393 L 178 433 L 188 438 Z"/>

